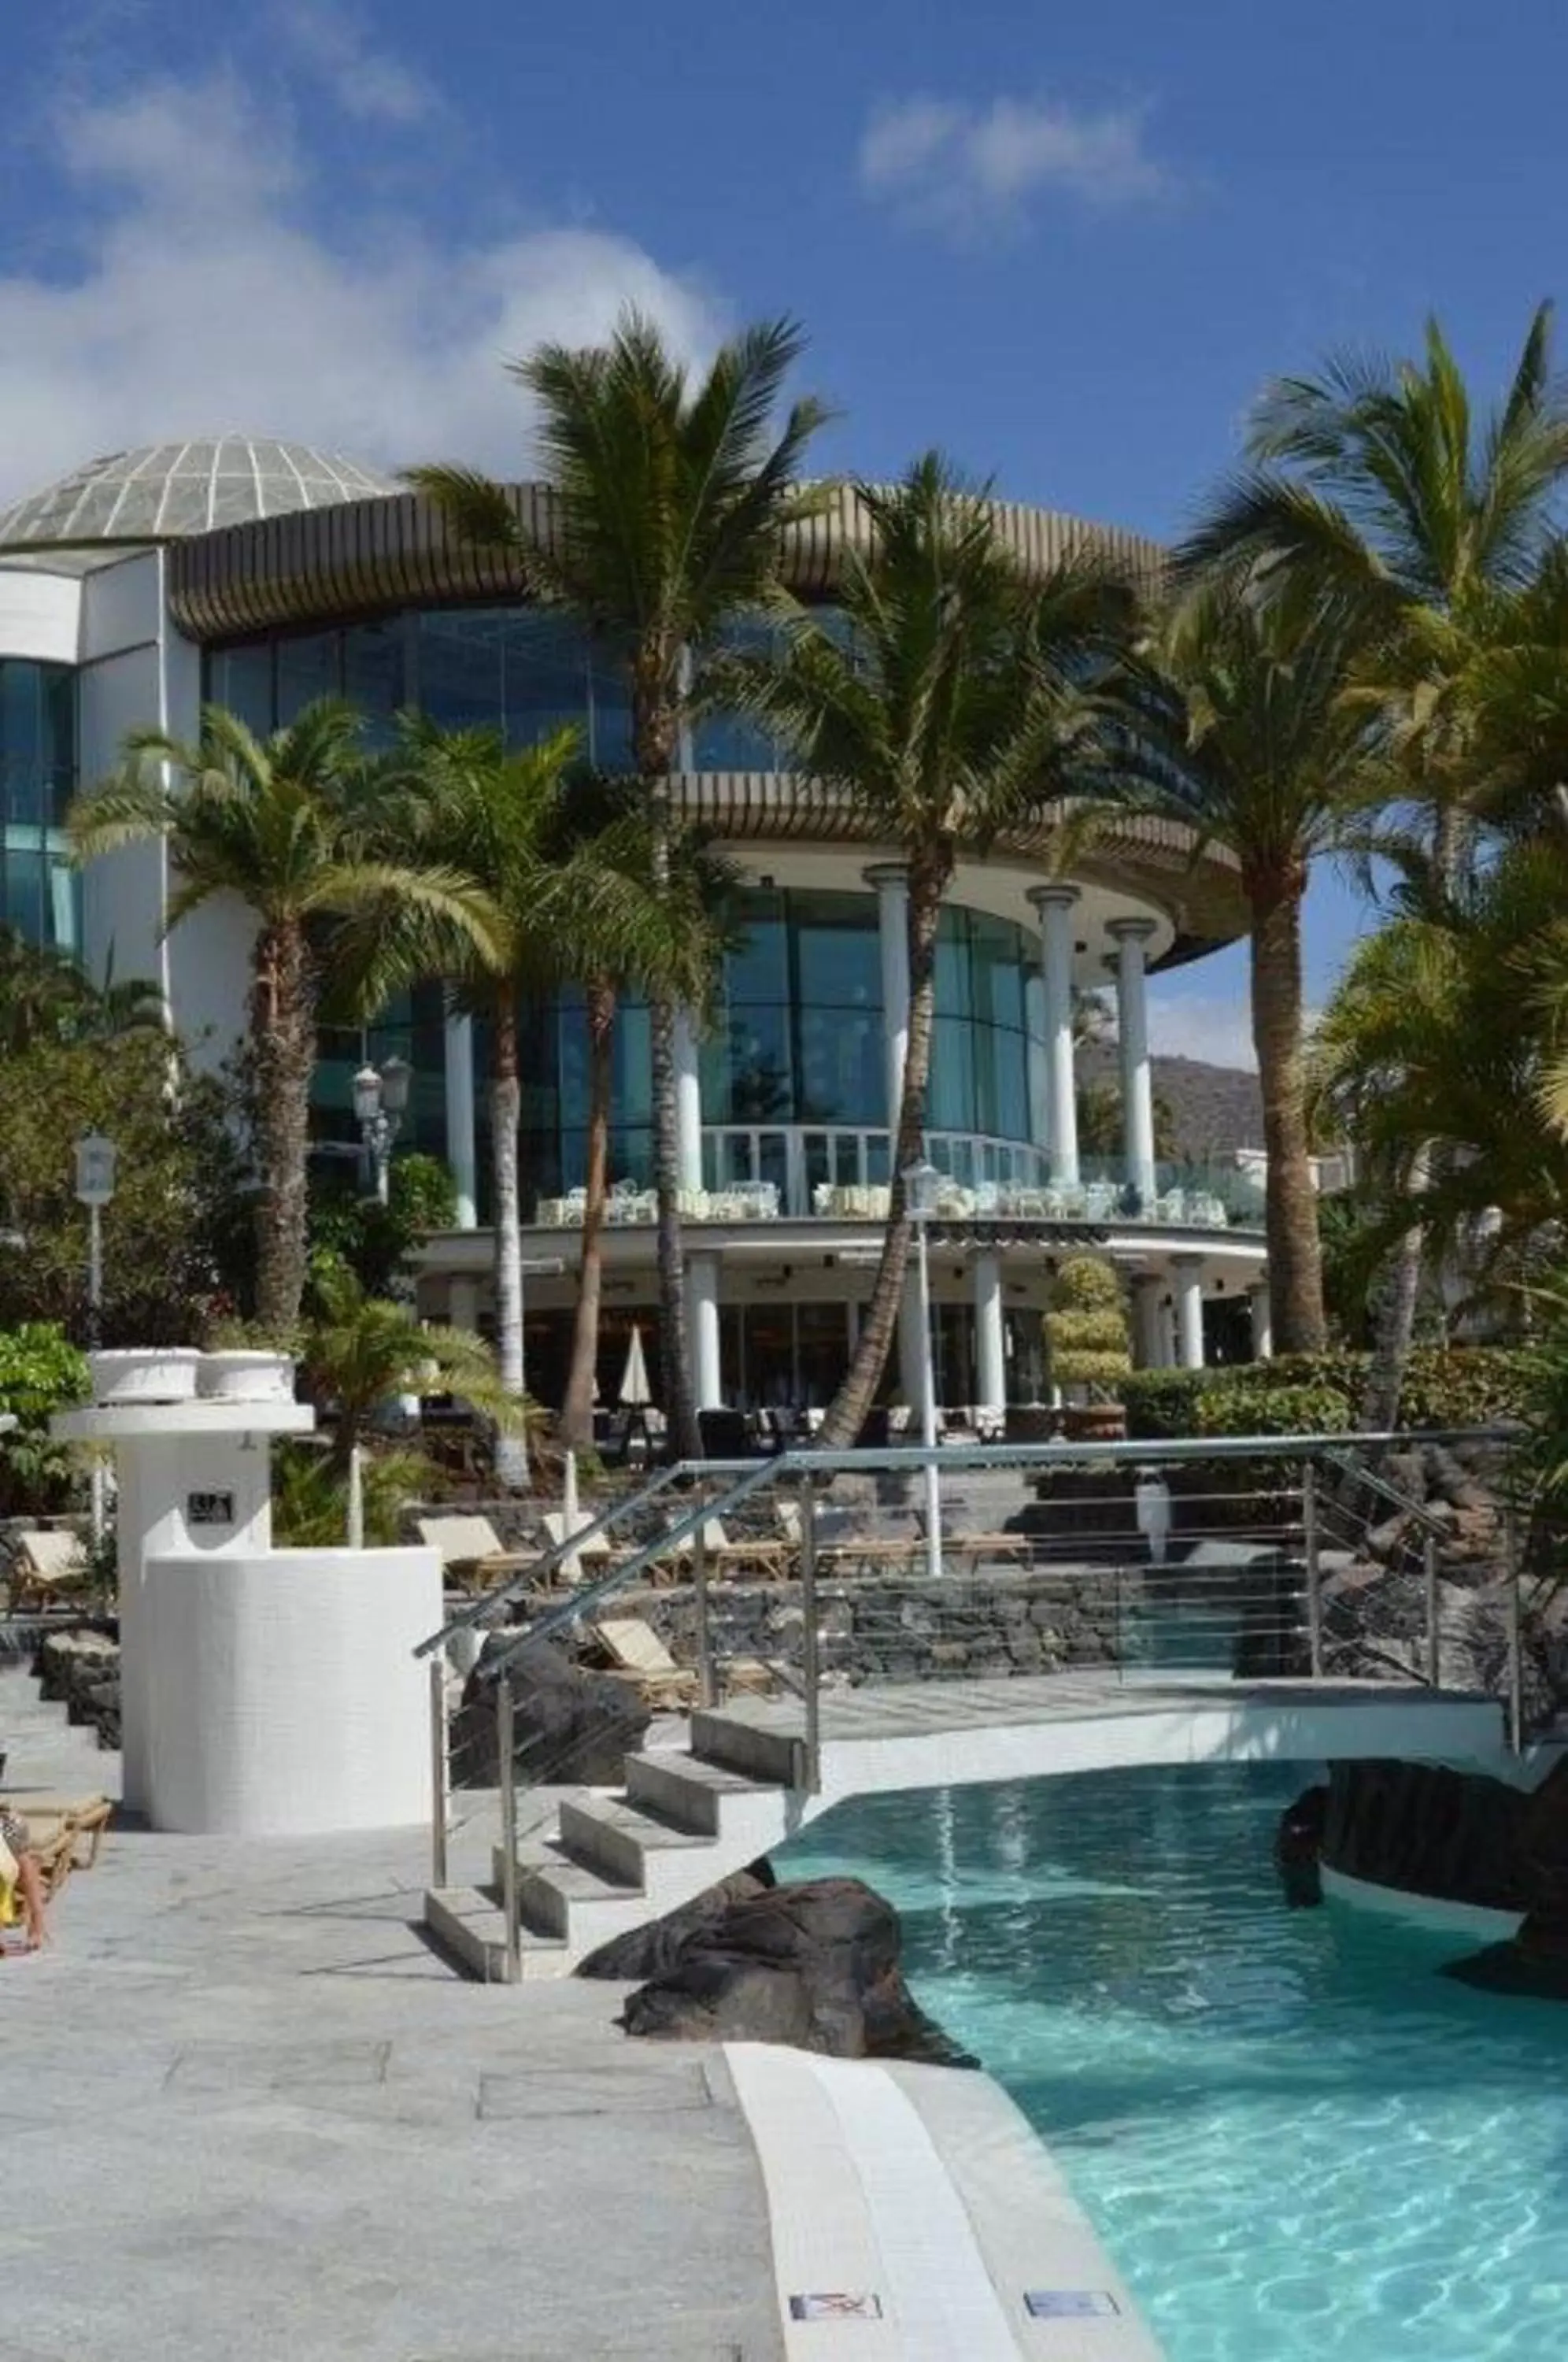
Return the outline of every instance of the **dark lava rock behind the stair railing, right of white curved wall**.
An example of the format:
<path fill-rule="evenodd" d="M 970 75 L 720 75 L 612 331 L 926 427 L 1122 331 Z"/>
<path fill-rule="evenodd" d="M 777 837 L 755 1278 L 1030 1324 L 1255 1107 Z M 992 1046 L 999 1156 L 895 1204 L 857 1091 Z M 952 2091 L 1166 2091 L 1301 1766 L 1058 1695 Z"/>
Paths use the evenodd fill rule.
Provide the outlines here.
<path fill-rule="evenodd" d="M 453 1788 L 498 1783 L 496 1691 L 484 1668 L 512 1639 L 512 1632 L 491 1632 L 463 1686 L 463 1703 L 451 1717 Z M 564 1788 L 616 1786 L 626 1757 L 638 1753 L 654 1720 L 631 1682 L 588 1672 L 550 1642 L 531 1642 L 512 1658 L 512 1701 L 515 1772 Z"/>

